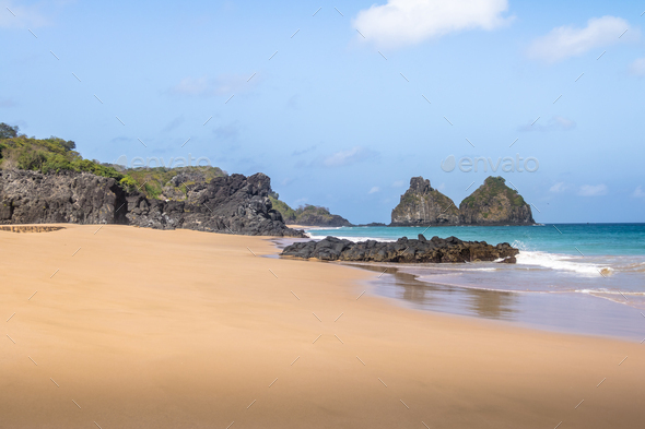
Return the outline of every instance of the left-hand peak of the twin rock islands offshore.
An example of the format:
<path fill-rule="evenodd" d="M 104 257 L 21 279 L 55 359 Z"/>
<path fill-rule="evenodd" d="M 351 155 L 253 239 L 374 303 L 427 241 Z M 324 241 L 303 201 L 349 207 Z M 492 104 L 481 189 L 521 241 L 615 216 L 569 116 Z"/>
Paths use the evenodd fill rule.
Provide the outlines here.
<path fill-rule="evenodd" d="M 432 188 L 430 180 L 413 177 L 410 179 L 410 189 L 392 210 L 390 226 L 447 226 L 458 222 L 459 211 L 453 200 Z"/>

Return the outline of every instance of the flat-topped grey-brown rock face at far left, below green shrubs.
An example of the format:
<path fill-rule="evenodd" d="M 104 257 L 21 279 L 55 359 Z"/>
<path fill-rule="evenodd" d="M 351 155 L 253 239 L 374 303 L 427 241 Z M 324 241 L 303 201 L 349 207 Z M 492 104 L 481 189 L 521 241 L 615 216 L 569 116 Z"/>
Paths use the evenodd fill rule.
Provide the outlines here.
<path fill-rule="evenodd" d="M 115 179 L 0 170 L 0 224 L 126 224 L 125 205 Z"/>

